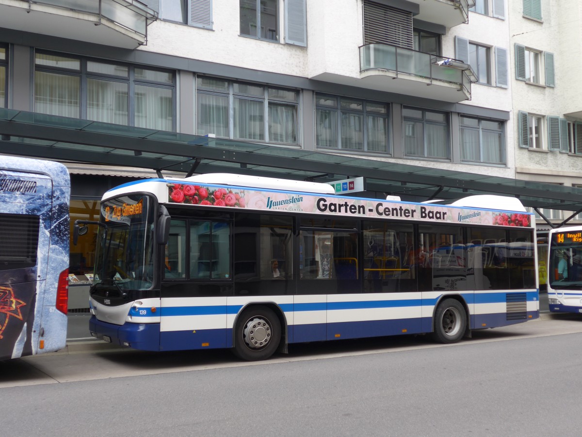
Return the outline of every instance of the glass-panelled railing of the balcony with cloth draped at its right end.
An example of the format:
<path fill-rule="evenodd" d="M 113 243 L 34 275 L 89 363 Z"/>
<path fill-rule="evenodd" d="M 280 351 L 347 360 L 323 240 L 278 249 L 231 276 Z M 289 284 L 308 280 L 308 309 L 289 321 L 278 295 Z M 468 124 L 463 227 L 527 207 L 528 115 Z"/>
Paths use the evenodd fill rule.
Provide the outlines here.
<path fill-rule="evenodd" d="M 471 95 L 471 83 L 477 77 L 471 67 L 452 58 L 410 50 L 383 43 L 365 44 L 360 47 L 360 71 L 391 71 L 434 81 L 456 84 L 459 90 Z"/>

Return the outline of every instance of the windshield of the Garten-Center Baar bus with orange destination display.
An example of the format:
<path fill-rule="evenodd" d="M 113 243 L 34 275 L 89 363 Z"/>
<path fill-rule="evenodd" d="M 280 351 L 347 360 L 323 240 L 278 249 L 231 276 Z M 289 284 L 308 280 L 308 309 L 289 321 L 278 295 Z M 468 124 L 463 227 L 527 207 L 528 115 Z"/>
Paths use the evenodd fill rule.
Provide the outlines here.
<path fill-rule="evenodd" d="M 101 204 L 95 248 L 94 287 L 148 290 L 154 283 L 154 203 L 144 195 L 127 195 Z"/>

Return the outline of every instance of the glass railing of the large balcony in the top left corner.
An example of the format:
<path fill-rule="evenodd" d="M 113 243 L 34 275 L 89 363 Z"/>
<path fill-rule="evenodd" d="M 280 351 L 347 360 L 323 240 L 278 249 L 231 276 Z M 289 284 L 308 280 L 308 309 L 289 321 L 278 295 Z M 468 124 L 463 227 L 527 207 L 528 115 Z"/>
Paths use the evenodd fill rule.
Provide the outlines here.
<path fill-rule="evenodd" d="M 50 5 L 108 19 L 147 38 L 147 26 L 158 19 L 158 13 L 137 0 L 23 0 L 38 5 Z"/>

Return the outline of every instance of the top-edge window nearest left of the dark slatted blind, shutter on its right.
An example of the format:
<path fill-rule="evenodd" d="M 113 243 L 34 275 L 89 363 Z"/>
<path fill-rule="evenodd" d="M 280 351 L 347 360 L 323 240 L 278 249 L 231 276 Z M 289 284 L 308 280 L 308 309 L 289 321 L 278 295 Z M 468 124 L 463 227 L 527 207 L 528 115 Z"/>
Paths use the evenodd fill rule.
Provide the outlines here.
<path fill-rule="evenodd" d="M 279 41 L 279 0 L 240 0 L 240 34 Z"/>

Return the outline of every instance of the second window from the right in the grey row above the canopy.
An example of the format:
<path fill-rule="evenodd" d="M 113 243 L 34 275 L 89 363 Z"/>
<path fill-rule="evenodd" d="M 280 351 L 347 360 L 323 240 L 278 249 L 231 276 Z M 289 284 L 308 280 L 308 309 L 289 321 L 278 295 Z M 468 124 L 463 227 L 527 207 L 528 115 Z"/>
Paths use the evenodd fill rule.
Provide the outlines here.
<path fill-rule="evenodd" d="M 406 156 L 450 158 L 449 120 L 445 112 L 403 107 L 402 115 Z"/>

